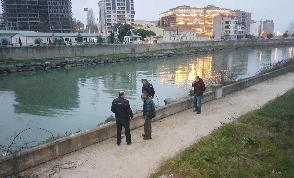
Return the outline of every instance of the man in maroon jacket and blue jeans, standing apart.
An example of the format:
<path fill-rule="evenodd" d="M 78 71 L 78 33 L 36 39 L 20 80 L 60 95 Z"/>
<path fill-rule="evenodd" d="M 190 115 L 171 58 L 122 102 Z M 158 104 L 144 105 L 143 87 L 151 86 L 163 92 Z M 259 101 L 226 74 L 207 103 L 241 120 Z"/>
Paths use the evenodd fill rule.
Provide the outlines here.
<path fill-rule="evenodd" d="M 194 112 L 198 111 L 196 114 L 201 113 L 201 98 L 206 90 L 205 84 L 199 76 L 195 78 L 195 80 L 192 83 L 192 87 L 194 87 Z"/>

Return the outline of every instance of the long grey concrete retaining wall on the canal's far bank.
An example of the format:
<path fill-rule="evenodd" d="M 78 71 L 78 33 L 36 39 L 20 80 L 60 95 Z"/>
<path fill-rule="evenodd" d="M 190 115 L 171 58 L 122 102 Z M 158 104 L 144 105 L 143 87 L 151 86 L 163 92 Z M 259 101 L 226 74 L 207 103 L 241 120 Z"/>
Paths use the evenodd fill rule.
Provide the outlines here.
<path fill-rule="evenodd" d="M 1 47 L 0 59 L 31 60 L 64 57 L 98 56 L 121 53 L 141 53 L 147 51 L 167 50 L 200 46 L 245 45 L 291 43 L 293 39 L 271 40 L 233 40 L 233 41 L 193 41 L 176 43 L 126 44 L 126 45 L 74 45 L 74 46 L 19 46 Z"/>

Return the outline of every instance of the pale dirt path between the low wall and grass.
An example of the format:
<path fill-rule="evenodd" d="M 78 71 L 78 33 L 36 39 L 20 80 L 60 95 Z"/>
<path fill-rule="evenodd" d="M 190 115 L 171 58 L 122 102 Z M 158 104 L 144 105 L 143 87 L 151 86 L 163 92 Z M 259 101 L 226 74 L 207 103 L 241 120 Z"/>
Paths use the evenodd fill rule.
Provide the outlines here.
<path fill-rule="evenodd" d="M 197 142 L 217 128 L 225 117 L 235 113 L 237 117 L 256 110 L 268 101 L 294 88 L 294 73 L 287 73 L 238 92 L 226 95 L 202 105 L 202 112 L 196 115 L 193 109 L 171 115 L 152 123 L 152 140 L 143 140 L 143 127 L 131 131 L 133 144 L 125 139 L 121 146 L 110 138 L 81 150 L 37 165 L 24 174 L 48 176 L 53 165 L 66 162 L 83 162 L 74 170 L 60 169 L 52 177 L 148 177 L 163 161 L 178 154 L 184 148 Z"/>

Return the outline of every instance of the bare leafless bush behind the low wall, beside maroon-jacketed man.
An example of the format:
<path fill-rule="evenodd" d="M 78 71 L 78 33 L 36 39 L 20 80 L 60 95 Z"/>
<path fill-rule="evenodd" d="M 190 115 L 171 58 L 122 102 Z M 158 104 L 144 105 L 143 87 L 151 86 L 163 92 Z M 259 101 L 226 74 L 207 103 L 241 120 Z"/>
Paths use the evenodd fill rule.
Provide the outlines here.
<path fill-rule="evenodd" d="M 211 73 L 204 72 L 203 79 L 209 84 L 229 85 L 235 83 L 241 74 L 237 66 L 226 66 L 225 59 L 217 59 L 211 67 Z"/>

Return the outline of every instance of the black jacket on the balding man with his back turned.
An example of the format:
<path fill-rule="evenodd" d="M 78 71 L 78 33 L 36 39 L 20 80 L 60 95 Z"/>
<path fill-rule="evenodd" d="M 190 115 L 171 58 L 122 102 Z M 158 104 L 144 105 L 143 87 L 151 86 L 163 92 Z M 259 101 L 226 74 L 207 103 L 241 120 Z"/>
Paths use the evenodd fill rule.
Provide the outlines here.
<path fill-rule="evenodd" d="M 118 97 L 112 101 L 111 111 L 119 122 L 130 121 L 130 117 L 134 117 L 129 101 L 123 97 Z"/>

